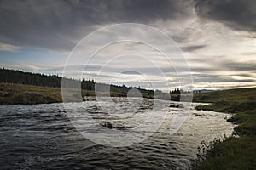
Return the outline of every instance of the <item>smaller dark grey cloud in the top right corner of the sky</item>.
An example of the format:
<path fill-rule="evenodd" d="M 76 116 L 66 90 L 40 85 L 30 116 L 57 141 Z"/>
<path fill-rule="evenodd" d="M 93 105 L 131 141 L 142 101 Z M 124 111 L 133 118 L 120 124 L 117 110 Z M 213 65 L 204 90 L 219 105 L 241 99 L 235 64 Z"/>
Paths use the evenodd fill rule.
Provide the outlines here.
<path fill-rule="evenodd" d="M 195 0 L 196 13 L 223 22 L 236 30 L 256 31 L 256 1 Z"/>

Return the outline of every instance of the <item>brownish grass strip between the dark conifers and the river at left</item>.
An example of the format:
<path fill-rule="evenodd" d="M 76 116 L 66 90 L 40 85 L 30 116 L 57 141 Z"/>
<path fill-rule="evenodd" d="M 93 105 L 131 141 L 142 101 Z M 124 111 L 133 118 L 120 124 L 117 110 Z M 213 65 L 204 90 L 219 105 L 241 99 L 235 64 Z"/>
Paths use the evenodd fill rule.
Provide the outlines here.
<path fill-rule="evenodd" d="M 94 91 L 81 90 L 81 95 L 69 95 L 70 101 L 81 101 L 81 96 L 95 96 Z M 100 94 L 101 95 L 101 94 Z M 102 94 L 108 96 L 109 94 Z M 112 97 L 126 97 L 124 92 L 110 92 Z M 154 98 L 152 95 L 143 94 L 143 98 Z M 35 105 L 62 102 L 61 88 L 49 88 L 24 84 L 0 83 L 0 105 Z"/>

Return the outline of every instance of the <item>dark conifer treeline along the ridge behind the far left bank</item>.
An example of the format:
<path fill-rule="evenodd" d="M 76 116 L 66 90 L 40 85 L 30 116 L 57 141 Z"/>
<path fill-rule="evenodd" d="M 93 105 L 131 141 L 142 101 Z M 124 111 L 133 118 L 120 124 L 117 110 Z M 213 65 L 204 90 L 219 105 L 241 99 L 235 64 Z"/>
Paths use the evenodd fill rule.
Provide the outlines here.
<path fill-rule="evenodd" d="M 44 86 L 51 88 L 61 88 L 61 80 L 65 77 L 59 77 L 57 75 L 47 76 L 40 73 L 31 73 L 26 71 L 15 71 L 9 69 L 0 69 L 0 82 L 3 83 L 14 83 L 14 84 L 26 84 L 34 86 Z M 96 84 L 102 89 L 110 88 L 111 92 L 116 92 L 120 94 L 127 94 L 127 92 L 134 87 L 117 86 L 117 85 L 108 85 L 104 83 L 96 83 L 94 80 L 75 80 L 73 78 L 65 78 L 65 81 L 68 82 L 69 87 L 74 85 L 77 87 L 78 83 L 81 84 L 81 88 L 88 91 L 95 91 Z M 154 97 L 154 91 L 137 88 L 141 93 L 148 97 Z"/>

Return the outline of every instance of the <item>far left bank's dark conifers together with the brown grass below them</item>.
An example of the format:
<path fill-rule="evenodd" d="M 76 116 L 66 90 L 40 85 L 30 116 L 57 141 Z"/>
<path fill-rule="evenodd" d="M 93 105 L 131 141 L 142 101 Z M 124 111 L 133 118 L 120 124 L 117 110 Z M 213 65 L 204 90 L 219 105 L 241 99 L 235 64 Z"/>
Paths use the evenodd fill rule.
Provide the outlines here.
<path fill-rule="evenodd" d="M 24 71 L 14 71 L 9 69 L 0 69 L 0 104 L 38 104 L 38 103 L 54 103 L 61 102 L 61 81 L 67 81 L 69 85 L 81 85 L 82 96 L 94 96 L 96 85 L 102 88 L 110 88 L 111 96 L 125 97 L 131 88 L 117 85 L 108 85 L 97 83 L 94 80 L 75 80 L 73 78 L 59 77 L 57 75 L 46 76 L 39 73 L 30 73 Z M 5 84 L 5 85 L 4 85 Z M 17 85 L 15 85 L 17 84 Z M 28 85 L 28 86 L 21 86 Z M 44 89 L 42 94 L 40 88 Z M 22 88 L 21 88 L 22 87 Z M 30 90 L 30 88 L 32 89 Z M 14 89 L 11 89 L 14 88 Z M 20 91 L 26 89 L 25 91 Z M 70 88 L 70 87 L 68 87 Z M 144 98 L 154 98 L 154 91 L 144 88 L 137 88 Z M 51 94 L 51 91 L 58 91 L 58 97 Z"/>

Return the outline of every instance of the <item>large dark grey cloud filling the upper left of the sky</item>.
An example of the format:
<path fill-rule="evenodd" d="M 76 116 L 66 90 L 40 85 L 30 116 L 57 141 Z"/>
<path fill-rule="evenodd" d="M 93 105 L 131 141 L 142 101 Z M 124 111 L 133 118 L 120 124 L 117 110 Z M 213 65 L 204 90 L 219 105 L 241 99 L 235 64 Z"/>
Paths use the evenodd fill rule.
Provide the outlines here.
<path fill-rule="evenodd" d="M 0 1 L 0 39 L 28 48 L 69 51 L 96 27 L 120 22 L 150 24 L 193 13 L 189 1 Z"/>

